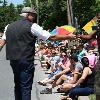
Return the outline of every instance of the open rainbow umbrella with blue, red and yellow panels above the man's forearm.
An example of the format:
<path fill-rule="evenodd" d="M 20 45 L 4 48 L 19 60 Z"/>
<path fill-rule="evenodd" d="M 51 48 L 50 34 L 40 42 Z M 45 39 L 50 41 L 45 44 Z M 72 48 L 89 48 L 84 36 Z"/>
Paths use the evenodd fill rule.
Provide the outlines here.
<path fill-rule="evenodd" d="M 76 28 L 74 28 L 73 26 L 64 25 L 64 26 L 57 27 L 56 29 L 54 29 L 51 32 L 51 34 L 68 35 L 68 34 L 74 32 L 75 30 L 76 30 Z"/>

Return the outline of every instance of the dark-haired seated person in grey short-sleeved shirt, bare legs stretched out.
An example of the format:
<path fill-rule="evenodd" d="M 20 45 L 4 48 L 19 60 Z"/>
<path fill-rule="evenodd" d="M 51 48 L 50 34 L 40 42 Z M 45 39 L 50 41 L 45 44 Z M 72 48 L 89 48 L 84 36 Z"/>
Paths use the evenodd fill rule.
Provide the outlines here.
<path fill-rule="evenodd" d="M 64 91 L 64 89 L 66 89 L 66 88 L 65 88 L 65 87 L 66 87 L 66 84 L 67 84 L 67 89 L 70 89 L 71 87 L 69 86 L 69 84 L 74 84 L 74 83 L 77 82 L 79 73 L 82 71 L 83 66 L 82 66 L 82 64 L 81 64 L 80 62 L 78 62 L 77 56 L 72 56 L 72 57 L 70 58 L 70 60 L 71 60 L 72 67 L 68 67 L 68 69 L 67 69 L 67 71 L 68 71 L 67 74 L 61 76 L 61 78 L 58 79 L 57 82 L 55 81 L 56 84 L 55 84 L 55 82 L 54 82 L 54 83 L 53 83 L 52 85 L 50 85 L 48 88 L 42 90 L 42 91 L 40 92 L 41 94 L 49 94 L 49 93 L 52 93 L 52 88 L 54 88 L 55 86 L 61 84 L 62 81 L 65 81 L 65 80 L 67 80 L 67 79 L 68 79 L 68 80 L 66 81 L 67 83 L 64 83 L 64 84 L 63 84 L 63 87 L 60 88 L 60 89 L 62 89 L 63 91 Z M 56 76 L 56 75 L 55 75 L 55 76 Z M 62 77 L 64 77 L 64 78 L 62 78 Z"/>

